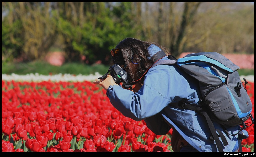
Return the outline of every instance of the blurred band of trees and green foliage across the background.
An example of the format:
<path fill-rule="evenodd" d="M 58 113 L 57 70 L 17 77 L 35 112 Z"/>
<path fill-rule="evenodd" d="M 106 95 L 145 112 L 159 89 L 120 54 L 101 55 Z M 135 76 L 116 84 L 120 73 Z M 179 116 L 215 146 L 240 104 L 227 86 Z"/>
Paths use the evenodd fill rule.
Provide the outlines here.
<path fill-rule="evenodd" d="M 109 65 L 126 37 L 182 52 L 254 53 L 252 2 L 2 2 L 2 65 L 43 61 Z M 85 60 L 81 60 L 85 56 Z"/>

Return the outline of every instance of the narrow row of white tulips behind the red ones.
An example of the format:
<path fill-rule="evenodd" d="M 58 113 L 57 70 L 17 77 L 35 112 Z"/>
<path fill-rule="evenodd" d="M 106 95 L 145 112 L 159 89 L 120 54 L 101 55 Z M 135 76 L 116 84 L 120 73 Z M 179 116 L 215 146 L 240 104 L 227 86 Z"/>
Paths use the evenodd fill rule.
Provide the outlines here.
<path fill-rule="evenodd" d="M 72 74 L 56 74 L 56 75 L 39 75 L 38 73 L 35 74 L 27 74 L 27 75 L 17 75 L 17 74 L 2 74 L 2 80 L 6 81 L 27 81 L 27 82 L 41 82 L 41 81 L 53 81 L 53 82 L 59 82 L 59 81 L 71 81 L 71 82 L 83 82 L 83 81 L 95 81 L 99 80 L 98 77 L 101 77 L 102 74 L 99 74 L 96 72 L 94 75 L 72 75 Z M 254 82 L 254 75 L 248 75 L 248 76 L 240 76 L 241 81 L 243 82 L 243 78 L 246 79 L 246 81 Z"/>

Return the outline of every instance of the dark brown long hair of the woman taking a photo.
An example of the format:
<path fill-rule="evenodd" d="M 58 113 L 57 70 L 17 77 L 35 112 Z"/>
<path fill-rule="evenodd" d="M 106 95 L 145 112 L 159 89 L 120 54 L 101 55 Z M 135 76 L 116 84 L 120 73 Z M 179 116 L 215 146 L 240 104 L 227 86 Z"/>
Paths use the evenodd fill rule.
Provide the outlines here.
<path fill-rule="evenodd" d="M 140 78 L 147 69 L 154 64 L 153 61 L 149 60 L 147 57 L 149 56 L 148 47 L 151 44 L 157 45 L 161 48 L 166 54 L 169 52 L 166 50 L 165 47 L 147 41 L 141 41 L 135 38 L 125 38 L 124 40 L 120 41 L 118 45 L 116 45 L 116 49 L 121 49 L 122 53 L 117 53 L 114 57 L 112 57 L 112 62 L 118 65 L 126 65 L 125 71 L 129 74 L 131 79 L 138 79 Z M 128 63 L 138 63 L 136 72 L 131 72 L 131 67 Z M 132 81 L 132 80 L 130 80 Z"/>

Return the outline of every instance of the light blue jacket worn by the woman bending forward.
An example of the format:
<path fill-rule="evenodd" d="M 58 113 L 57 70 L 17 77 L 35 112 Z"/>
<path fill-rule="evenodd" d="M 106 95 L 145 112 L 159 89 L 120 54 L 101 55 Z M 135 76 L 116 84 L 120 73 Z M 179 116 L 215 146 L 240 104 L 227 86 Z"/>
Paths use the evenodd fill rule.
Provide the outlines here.
<path fill-rule="evenodd" d="M 166 134 L 171 124 L 198 151 L 218 151 L 215 142 L 209 138 L 211 132 L 203 116 L 192 110 L 180 110 L 169 105 L 182 99 L 197 105 L 200 91 L 193 81 L 175 64 L 157 65 L 148 70 L 138 92 L 133 93 L 120 85 L 114 85 L 109 86 L 106 94 L 111 104 L 124 116 L 136 121 L 144 120 L 155 134 Z M 214 126 L 223 132 L 218 123 L 214 123 Z M 240 127 L 226 128 L 229 134 L 236 134 Z M 238 151 L 238 135 L 223 134 L 228 140 L 228 145 L 225 148 L 223 146 L 224 151 Z M 243 130 L 242 134 L 240 140 L 248 137 L 246 131 Z"/>

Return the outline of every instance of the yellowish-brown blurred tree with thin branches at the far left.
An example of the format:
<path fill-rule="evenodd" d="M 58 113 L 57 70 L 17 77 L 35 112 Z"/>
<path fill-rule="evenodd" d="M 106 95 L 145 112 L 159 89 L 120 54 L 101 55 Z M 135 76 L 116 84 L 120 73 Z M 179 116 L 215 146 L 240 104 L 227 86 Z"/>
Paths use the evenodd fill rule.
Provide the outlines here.
<path fill-rule="evenodd" d="M 10 31 L 10 41 L 4 47 L 16 45 L 19 49 L 13 56 L 21 57 L 22 61 L 43 58 L 57 37 L 50 17 L 50 2 L 6 2 L 4 5 L 7 14 L 4 24 L 2 22 L 2 33 L 6 28 Z"/>

